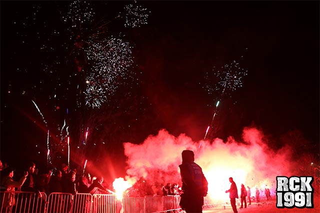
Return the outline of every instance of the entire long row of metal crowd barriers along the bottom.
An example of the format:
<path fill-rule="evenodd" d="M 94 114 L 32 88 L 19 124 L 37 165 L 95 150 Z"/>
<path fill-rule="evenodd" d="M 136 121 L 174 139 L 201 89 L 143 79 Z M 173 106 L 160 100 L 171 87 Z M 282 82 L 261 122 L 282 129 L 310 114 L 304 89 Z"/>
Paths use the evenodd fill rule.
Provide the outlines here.
<path fill-rule="evenodd" d="M 0 192 L 0 213 L 164 213 L 179 212 L 180 196 L 125 197 L 114 195 Z M 204 199 L 204 208 L 213 207 Z"/>

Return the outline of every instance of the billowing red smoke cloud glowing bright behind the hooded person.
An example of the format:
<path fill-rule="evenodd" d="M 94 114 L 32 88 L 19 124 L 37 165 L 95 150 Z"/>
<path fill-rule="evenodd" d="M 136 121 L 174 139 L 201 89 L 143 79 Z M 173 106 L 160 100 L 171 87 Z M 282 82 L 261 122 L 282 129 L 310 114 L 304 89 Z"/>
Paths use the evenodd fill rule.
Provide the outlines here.
<path fill-rule="evenodd" d="M 188 149 L 194 152 L 194 162 L 201 166 L 208 180 L 208 196 L 214 201 L 228 200 L 224 191 L 230 186 L 229 177 L 233 177 L 238 191 L 244 184 L 251 188 L 253 196 L 256 187 L 260 196 L 264 195 L 265 188 L 270 189 L 272 195 L 276 176 L 293 175 L 295 166 L 291 156 L 285 149 L 271 150 L 263 133 L 256 128 L 244 128 L 242 140 L 237 142 L 230 136 L 225 143 L 218 138 L 194 142 L 184 134 L 174 137 L 166 130 L 160 130 L 140 145 L 123 144 L 128 165 L 126 180 L 143 177 L 151 184 L 180 185 L 178 165 L 181 164 L 181 152 Z"/>

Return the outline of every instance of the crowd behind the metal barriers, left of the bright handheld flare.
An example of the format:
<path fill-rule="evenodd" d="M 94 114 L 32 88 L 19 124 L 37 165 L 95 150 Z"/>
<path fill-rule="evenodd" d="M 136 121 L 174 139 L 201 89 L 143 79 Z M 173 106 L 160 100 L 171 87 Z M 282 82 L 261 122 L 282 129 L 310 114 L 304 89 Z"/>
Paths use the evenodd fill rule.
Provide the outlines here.
<path fill-rule="evenodd" d="M 52 171 L 48 169 L 39 174 L 33 162 L 29 163 L 23 176 L 17 180 L 12 167 L 2 165 L 0 161 L 0 189 L 1 191 L 34 192 L 39 197 L 41 193 L 88 193 L 88 194 L 113 194 L 104 186 L 103 177 L 90 177 L 86 173 L 83 176 L 77 175 L 76 169 L 69 170 L 66 164 L 62 164 L 60 169 Z M 15 181 L 16 180 L 16 181 Z"/>

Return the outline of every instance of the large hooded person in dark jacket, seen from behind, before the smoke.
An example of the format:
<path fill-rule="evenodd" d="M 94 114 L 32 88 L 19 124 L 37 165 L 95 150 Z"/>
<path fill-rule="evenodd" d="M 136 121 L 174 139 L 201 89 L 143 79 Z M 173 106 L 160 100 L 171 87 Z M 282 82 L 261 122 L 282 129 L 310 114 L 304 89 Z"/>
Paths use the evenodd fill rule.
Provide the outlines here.
<path fill-rule="evenodd" d="M 194 153 L 191 150 L 183 150 L 182 164 L 179 165 L 182 181 L 182 194 L 180 207 L 186 213 L 202 213 L 203 197 L 208 190 L 202 169 L 194 163 Z"/>

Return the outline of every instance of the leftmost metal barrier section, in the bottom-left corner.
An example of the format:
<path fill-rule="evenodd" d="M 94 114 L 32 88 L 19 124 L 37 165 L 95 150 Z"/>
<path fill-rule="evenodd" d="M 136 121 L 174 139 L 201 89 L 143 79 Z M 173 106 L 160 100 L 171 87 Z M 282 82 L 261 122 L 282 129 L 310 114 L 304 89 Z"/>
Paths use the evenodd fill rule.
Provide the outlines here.
<path fill-rule="evenodd" d="M 0 192 L 1 213 L 45 212 L 46 194 L 32 192 Z"/>

